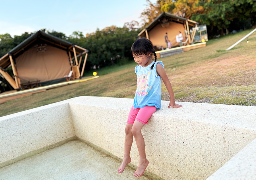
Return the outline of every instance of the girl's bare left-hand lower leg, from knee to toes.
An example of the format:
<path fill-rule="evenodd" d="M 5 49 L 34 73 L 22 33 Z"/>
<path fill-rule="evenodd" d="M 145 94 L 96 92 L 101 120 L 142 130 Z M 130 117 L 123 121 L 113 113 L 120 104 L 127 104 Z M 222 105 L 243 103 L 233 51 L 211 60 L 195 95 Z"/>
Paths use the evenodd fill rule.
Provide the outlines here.
<path fill-rule="evenodd" d="M 133 124 L 126 124 L 125 127 L 125 153 L 123 157 L 123 162 L 120 165 L 120 167 L 117 169 L 117 172 L 121 173 L 125 169 L 125 166 L 131 162 L 130 157 L 130 151 L 131 151 L 131 145 L 133 144 L 133 133 L 131 132 L 131 129 L 133 127 Z"/>

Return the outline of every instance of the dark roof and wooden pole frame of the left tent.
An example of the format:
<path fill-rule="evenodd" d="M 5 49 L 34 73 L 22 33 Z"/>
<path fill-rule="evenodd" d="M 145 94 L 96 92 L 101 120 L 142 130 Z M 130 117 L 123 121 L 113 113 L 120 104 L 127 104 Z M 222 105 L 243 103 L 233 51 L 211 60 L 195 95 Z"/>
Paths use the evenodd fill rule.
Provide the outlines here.
<path fill-rule="evenodd" d="M 16 69 L 16 62 L 15 58 L 24 53 L 26 50 L 31 48 L 36 42 L 47 42 L 51 46 L 60 48 L 67 52 L 67 56 L 69 57 L 70 66 L 73 69 L 74 66 L 78 66 L 77 75 L 75 78 L 81 78 L 84 73 L 86 59 L 88 57 L 88 50 L 80 47 L 78 45 L 72 44 L 56 36 L 51 34 L 47 34 L 42 31 L 38 31 L 28 37 L 26 40 L 21 42 L 19 45 L 11 49 L 7 54 L 0 58 L 0 73 L 1 75 L 9 82 L 9 84 L 15 89 L 20 90 L 21 88 L 21 81 Z M 85 59 L 82 67 L 82 73 L 80 73 L 79 67 L 82 60 L 82 55 L 85 54 Z M 78 57 L 80 57 L 78 62 Z M 75 59 L 75 63 L 73 63 L 73 59 Z M 7 72 L 6 69 L 12 67 L 14 78 L 12 78 Z"/>

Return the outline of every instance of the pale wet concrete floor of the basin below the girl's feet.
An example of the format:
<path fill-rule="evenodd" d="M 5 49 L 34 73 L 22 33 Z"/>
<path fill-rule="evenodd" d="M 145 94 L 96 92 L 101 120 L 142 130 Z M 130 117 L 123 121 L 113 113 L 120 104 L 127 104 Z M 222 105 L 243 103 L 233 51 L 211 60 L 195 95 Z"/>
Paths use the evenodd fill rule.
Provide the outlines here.
<path fill-rule="evenodd" d="M 151 180 L 133 176 L 127 166 L 117 173 L 121 162 L 79 140 L 72 140 L 0 169 L 0 180 Z"/>

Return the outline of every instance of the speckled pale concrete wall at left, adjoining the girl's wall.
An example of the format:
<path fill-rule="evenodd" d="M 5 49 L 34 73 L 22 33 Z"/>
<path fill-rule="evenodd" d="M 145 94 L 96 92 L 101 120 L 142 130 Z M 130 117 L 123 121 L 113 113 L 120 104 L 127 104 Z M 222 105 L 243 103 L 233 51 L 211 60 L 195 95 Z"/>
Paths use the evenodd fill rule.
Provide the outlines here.
<path fill-rule="evenodd" d="M 1 163 L 75 136 L 67 102 L 0 118 Z"/>

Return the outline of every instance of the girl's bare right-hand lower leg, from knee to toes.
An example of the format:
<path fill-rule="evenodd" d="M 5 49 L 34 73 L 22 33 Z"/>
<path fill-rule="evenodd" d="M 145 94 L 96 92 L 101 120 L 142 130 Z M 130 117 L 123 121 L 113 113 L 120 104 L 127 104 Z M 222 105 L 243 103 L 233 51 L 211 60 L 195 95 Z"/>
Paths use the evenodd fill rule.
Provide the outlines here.
<path fill-rule="evenodd" d="M 144 126 L 143 123 L 135 120 L 131 130 L 135 138 L 137 148 L 139 151 L 139 156 L 140 156 L 140 162 L 139 162 L 138 168 L 134 173 L 135 177 L 140 177 L 141 175 L 143 175 L 146 167 L 148 166 L 148 160 L 146 159 L 146 152 L 145 152 L 145 141 L 141 134 L 141 129 L 143 126 Z"/>

